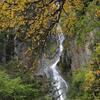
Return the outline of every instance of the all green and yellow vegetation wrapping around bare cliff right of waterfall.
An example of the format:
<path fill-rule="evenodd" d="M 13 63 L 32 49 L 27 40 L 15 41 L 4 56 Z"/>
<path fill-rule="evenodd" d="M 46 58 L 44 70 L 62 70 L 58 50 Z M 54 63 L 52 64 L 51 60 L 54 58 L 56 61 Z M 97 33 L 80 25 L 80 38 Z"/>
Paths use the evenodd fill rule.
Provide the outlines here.
<path fill-rule="evenodd" d="M 76 38 L 77 44 L 85 48 L 87 36 L 92 32 L 92 37 L 94 37 L 94 42 L 92 43 L 91 40 L 91 44 L 89 45 L 89 49 L 92 51 L 90 61 L 85 65 L 79 66 L 78 69 L 71 71 L 69 98 L 70 100 L 99 100 L 100 1 L 68 0 L 65 3 L 61 20 L 69 40 L 68 42 Z M 65 44 L 66 49 L 68 43 Z"/>

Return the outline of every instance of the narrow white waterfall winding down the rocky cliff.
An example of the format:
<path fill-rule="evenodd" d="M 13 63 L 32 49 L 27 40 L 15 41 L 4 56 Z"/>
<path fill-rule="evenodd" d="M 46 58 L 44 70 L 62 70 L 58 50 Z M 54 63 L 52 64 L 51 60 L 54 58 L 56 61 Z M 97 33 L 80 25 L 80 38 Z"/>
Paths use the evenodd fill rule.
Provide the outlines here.
<path fill-rule="evenodd" d="M 60 61 L 60 56 L 63 51 L 63 41 L 64 41 L 64 35 L 62 33 L 59 24 L 57 26 L 57 32 L 58 32 L 58 41 L 59 41 L 58 52 L 55 55 L 55 57 L 52 59 L 50 66 L 47 67 L 47 69 L 45 70 L 45 73 L 47 77 L 51 78 L 53 81 L 52 87 L 53 87 L 53 94 L 55 100 L 65 100 L 66 92 L 68 90 L 68 85 L 57 70 L 57 64 Z"/>

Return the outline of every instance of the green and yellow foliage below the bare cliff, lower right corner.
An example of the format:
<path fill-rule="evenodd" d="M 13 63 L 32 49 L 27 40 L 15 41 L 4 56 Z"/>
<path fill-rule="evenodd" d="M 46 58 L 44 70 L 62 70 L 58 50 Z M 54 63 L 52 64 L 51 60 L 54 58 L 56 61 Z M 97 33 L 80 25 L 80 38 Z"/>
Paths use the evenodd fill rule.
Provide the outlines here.
<path fill-rule="evenodd" d="M 95 46 L 91 61 L 86 67 L 72 72 L 69 98 L 71 100 L 100 99 L 100 43 Z"/>

